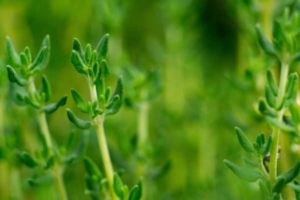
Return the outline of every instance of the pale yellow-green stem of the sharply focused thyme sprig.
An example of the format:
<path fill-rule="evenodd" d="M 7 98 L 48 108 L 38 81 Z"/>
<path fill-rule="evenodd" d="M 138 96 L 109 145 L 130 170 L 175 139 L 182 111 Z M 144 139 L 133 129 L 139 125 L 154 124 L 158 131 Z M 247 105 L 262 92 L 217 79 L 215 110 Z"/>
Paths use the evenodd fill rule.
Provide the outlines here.
<path fill-rule="evenodd" d="M 91 83 L 91 81 L 88 81 L 88 82 L 89 82 L 88 86 L 89 86 L 89 91 L 90 91 L 91 102 L 94 102 L 95 100 L 97 100 L 96 86 L 93 83 Z M 98 144 L 99 144 L 100 153 L 102 156 L 105 174 L 106 174 L 106 177 L 108 180 L 111 198 L 112 198 L 112 200 L 117 200 L 118 197 L 116 196 L 116 194 L 114 193 L 114 190 L 113 190 L 113 168 L 112 168 L 112 163 L 111 163 L 108 146 L 107 146 L 107 142 L 106 142 L 104 127 L 103 127 L 104 115 L 105 115 L 105 113 L 103 113 L 101 115 L 97 115 L 94 118 L 94 125 L 95 125 L 96 132 L 97 132 Z"/>

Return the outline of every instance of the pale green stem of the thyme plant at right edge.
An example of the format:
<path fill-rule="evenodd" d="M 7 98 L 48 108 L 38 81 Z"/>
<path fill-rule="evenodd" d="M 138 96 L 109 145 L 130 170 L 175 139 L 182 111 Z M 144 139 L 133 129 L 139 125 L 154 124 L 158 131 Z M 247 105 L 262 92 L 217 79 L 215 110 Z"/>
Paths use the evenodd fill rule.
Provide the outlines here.
<path fill-rule="evenodd" d="M 276 101 L 276 107 L 282 103 L 284 97 L 284 90 L 286 85 L 286 80 L 288 76 L 288 63 L 283 61 L 281 63 L 280 69 L 280 80 L 279 80 L 279 88 L 278 88 L 278 96 Z M 282 120 L 284 109 L 281 109 L 278 113 L 278 120 Z M 270 180 L 272 183 L 276 182 L 277 175 L 277 151 L 278 151 L 278 143 L 279 143 L 279 135 L 280 129 L 273 127 L 272 130 L 272 143 L 270 149 Z"/>

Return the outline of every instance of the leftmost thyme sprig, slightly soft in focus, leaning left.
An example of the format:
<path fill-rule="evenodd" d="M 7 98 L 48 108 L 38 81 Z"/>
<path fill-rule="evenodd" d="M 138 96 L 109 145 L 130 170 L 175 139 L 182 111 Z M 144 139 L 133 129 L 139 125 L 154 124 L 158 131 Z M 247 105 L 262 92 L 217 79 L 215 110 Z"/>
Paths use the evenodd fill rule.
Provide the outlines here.
<path fill-rule="evenodd" d="M 59 148 L 53 141 L 48 128 L 46 114 L 50 114 L 58 107 L 63 106 L 67 98 L 64 95 L 56 102 L 48 103 L 51 98 L 51 88 L 46 76 L 42 75 L 41 86 L 38 89 L 34 83 L 35 76 L 47 66 L 49 61 L 49 36 L 44 37 L 40 50 L 34 59 L 31 57 L 28 46 L 24 48 L 23 52 L 17 54 L 9 37 L 6 37 L 6 47 L 9 62 L 9 65 L 6 66 L 8 79 L 23 89 L 15 94 L 18 103 L 29 105 L 36 110 L 43 147 L 42 150 L 36 149 L 35 157 L 27 151 L 17 151 L 17 156 L 26 166 L 35 168 L 37 171 L 34 176 L 28 178 L 30 185 L 40 184 L 46 179 L 46 176 L 51 175 L 55 179 L 59 198 L 66 200 L 63 171 L 66 166 L 78 160 L 78 156 L 83 152 L 84 142 L 82 140 L 77 147 L 71 149 L 74 146 L 71 145 L 74 133 L 71 133 L 66 145 Z"/>

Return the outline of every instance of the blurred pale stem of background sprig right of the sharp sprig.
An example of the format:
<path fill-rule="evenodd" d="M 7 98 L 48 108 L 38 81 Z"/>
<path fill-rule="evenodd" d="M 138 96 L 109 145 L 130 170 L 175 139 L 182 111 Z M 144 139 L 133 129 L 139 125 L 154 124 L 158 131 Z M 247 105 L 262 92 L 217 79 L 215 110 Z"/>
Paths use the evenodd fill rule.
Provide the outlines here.
<path fill-rule="evenodd" d="M 148 139 L 148 102 L 141 102 L 138 116 L 138 146 L 142 147 Z"/>

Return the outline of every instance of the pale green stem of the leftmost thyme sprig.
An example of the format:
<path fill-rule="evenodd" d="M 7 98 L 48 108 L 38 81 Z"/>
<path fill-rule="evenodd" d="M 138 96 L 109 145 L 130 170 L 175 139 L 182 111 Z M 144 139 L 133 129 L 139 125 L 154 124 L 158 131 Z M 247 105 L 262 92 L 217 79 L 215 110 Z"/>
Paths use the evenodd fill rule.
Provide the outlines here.
<path fill-rule="evenodd" d="M 28 82 L 29 82 L 28 89 L 29 89 L 30 95 L 34 99 L 35 98 L 34 92 L 36 91 L 36 88 L 35 88 L 33 78 L 29 77 Z M 36 99 L 34 99 L 34 100 L 36 100 Z M 49 153 L 52 154 L 53 153 L 53 144 L 52 144 L 51 135 L 49 132 L 45 112 L 43 110 L 38 110 L 37 118 L 38 118 L 40 131 L 45 138 L 48 149 L 50 150 Z M 60 200 L 67 200 L 67 194 L 66 194 L 64 183 L 63 183 L 63 177 L 62 177 L 62 169 L 58 165 L 57 162 L 54 162 L 53 172 L 54 172 L 56 187 L 58 189 L 58 194 L 59 194 Z"/>

